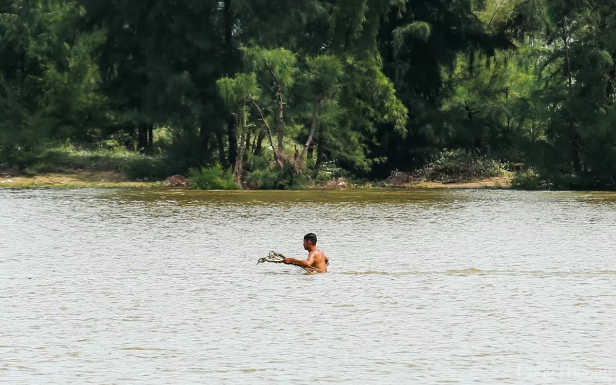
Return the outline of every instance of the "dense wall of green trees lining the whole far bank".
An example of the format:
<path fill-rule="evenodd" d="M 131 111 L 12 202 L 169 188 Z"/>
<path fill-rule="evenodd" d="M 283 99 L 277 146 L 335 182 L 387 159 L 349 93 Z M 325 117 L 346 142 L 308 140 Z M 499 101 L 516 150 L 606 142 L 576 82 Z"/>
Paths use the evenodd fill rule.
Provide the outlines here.
<path fill-rule="evenodd" d="M 6 0 L 0 164 L 70 142 L 357 177 L 444 150 L 616 187 L 610 0 Z"/>

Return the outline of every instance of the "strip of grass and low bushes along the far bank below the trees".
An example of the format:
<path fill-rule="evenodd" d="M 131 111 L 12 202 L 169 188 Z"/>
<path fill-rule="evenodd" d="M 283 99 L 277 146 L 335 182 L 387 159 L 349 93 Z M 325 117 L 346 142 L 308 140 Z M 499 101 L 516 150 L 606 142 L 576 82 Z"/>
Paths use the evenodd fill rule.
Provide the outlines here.
<path fill-rule="evenodd" d="M 232 171 L 223 168 L 220 164 L 209 168 L 192 168 L 182 172 L 172 168 L 169 160 L 160 155 L 142 155 L 124 148 L 84 150 L 65 145 L 44 150 L 30 166 L 26 167 L 23 175 L 29 176 L 30 179 L 20 178 L 19 182 L 0 184 L 0 186 L 156 187 L 163 184 L 155 181 L 180 174 L 187 177 L 193 188 L 204 190 L 426 188 L 439 187 L 439 185 L 448 183 L 485 180 L 503 176 L 507 172 L 505 165 L 496 160 L 462 150 L 443 152 L 424 168 L 411 174 L 394 172 L 392 177 L 397 177 L 399 179 L 397 182 L 395 180 L 392 182 L 392 177 L 383 182 L 352 179 L 349 172 L 339 168 L 333 162 L 321 164 L 317 172 L 310 168 L 298 171 L 291 164 L 285 164 L 282 169 L 272 168 L 270 164 L 271 162 L 265 158 L 251 159 L 246 167 L 243 185 L 239 185 L 235 182 Z M 113 173 L 113 176 L 112 174 L 96 174 L 97 172 Z M 528 181 L 519 178 L 516 186 L 522 188 L 532 180 L 530 177 L 527 179 Z M 477 185 L 476 187 L 482 186 Z M 497 186 L 491 182 L 489 187 Z"/>

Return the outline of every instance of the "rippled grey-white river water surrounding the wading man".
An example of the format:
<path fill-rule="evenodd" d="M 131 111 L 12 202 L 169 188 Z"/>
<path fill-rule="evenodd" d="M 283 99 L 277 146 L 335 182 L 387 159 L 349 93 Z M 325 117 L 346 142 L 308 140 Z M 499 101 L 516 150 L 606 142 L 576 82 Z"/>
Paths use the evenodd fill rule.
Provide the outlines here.
<path fill-rule="evenodd" d="M 0 383 L 614 384 L 616 195 L 0 189 Z M 255 265 L 306 257 L 330 274 Z"/>

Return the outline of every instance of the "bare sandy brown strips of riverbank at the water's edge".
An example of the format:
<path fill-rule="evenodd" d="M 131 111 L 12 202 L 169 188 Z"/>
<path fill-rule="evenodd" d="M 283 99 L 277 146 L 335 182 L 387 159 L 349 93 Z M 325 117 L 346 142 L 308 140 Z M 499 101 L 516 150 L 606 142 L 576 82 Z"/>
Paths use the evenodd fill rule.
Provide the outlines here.
<path fill-rule="evenodd" d="M 39 174 L 36 176 L 24 175 L 0 175 L 1 187 L 99 187 L 99 188 L 151 188 L 151 187 L 167 187 L 180 188 L 177 185 L 169 184 L 166 180 L 155 182 L 143 182 L 140 180 L 131 180 L 120 172 L 115 171 L 75 171 L 66 173 L 49 173 Z M 442 183 L 442 182 L 409 182 L 407 184 L 391 185 L 387 182 L 379 182 L 365 185 L 347 184 L 334 186 L 328 189 L 376 189 L 376 188 L 509 188 L 511 187 L 511 178 L 509 177 L 493 177 L 487 179 L 474 180 L 472 182 L 460 183 Z M 186 188 L 186 187 L 184 187 Z M 322 186 L 313 187 L 314 189 L 322 189 Z"/>

